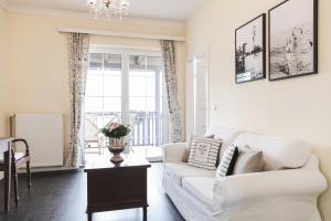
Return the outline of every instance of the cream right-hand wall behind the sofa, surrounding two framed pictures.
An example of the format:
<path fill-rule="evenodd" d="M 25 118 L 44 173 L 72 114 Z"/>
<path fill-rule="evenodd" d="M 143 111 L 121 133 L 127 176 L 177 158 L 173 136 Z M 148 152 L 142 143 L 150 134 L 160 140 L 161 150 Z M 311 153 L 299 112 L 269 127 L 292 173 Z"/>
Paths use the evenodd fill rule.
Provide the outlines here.
<path fill-rule="evenodd" d="M 210 110 L 213 125 L 303 138 L 314 146 L 330 181 L 331 1 L 319 0 L 318 75 L 235 84 L 235 29 L 263 12 L 267 13 L 280 1 L 206 1 L 188 22 L 188 55 L 210 49 L 210 104 L 217 106 L 216 110 Z M 331 220 L 330 207 L 331 190 L 328 190 L 320 198 L 324 220 Z"/>

